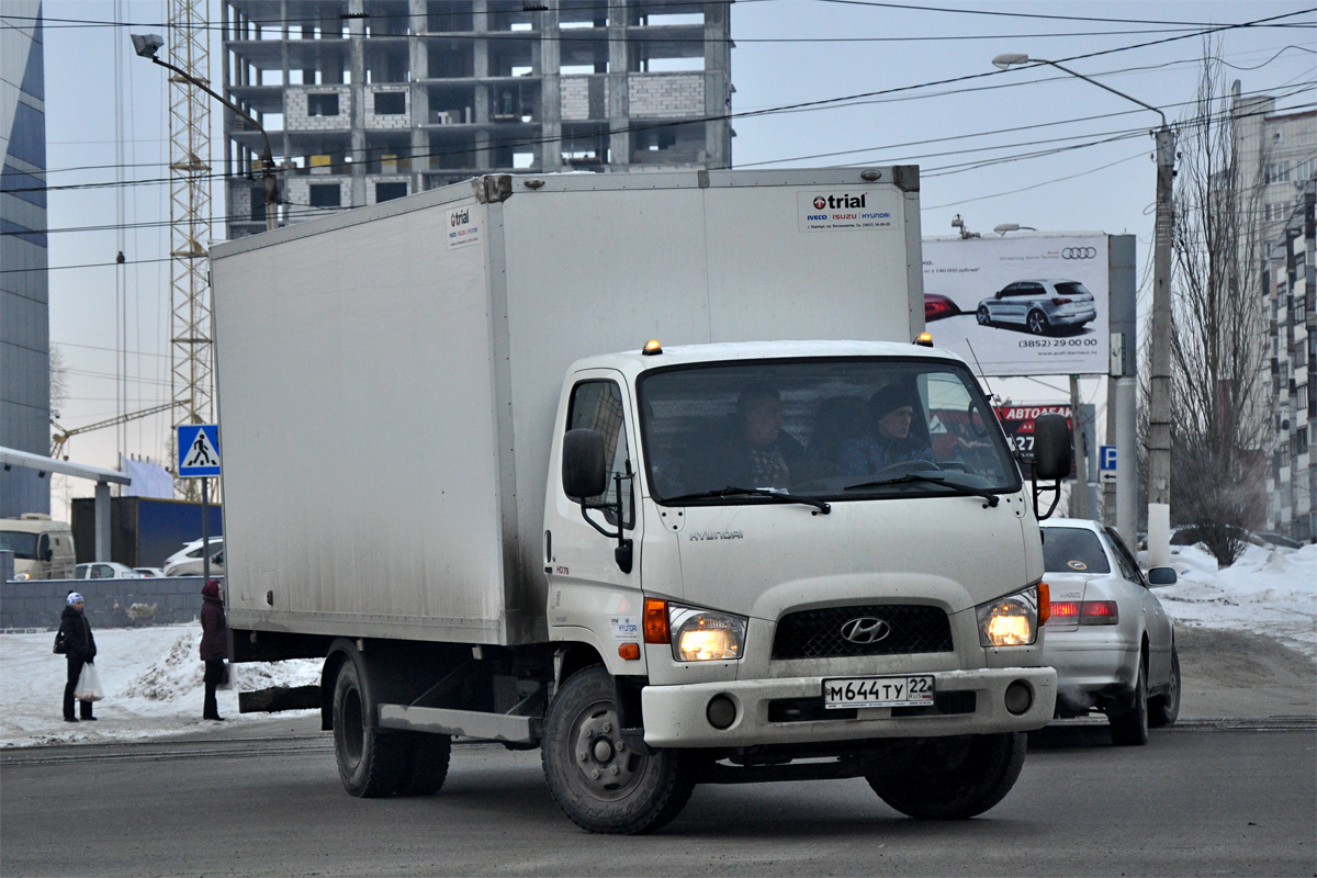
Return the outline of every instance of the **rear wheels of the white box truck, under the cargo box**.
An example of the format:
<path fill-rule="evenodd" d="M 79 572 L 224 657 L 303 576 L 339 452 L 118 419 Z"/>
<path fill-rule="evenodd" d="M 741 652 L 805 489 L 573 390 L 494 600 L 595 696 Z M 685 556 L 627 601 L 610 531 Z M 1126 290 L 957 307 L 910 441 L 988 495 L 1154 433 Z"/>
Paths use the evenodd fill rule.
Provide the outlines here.
<path fill-rule="evenodd" d="M 342 787 L 361 799 L 394 795 L 403 786 L 407 737 L 369 728 L 369 702 L 356 662 L 338 669 L 333 686 L 333 754 Z"/>

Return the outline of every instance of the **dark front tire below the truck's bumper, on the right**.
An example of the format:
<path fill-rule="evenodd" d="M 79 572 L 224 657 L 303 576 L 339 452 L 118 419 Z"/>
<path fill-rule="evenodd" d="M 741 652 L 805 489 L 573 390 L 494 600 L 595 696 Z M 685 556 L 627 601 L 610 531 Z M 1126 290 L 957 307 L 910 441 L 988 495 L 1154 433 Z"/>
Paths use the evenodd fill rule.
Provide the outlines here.
<path fill-rule="evenodd" d="M 1001 802 L 1025 766 L 1023 732 L 934 737 L 867 761 L 878 798 L 923 820 L 965 820 Z"/>

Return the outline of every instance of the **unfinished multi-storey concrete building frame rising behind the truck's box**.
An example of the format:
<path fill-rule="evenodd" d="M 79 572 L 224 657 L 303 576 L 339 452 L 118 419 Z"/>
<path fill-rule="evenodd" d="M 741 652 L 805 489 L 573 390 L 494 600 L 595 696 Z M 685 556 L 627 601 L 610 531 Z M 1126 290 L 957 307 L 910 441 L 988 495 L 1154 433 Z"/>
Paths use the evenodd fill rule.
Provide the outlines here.
<path fill-rule="evenodd" d="M 279 221 L 475 174 L 731 166 L 728 3 L 224 0 L 224 93 Z M 225 112 L 228 237 L 265 229 Z"/>

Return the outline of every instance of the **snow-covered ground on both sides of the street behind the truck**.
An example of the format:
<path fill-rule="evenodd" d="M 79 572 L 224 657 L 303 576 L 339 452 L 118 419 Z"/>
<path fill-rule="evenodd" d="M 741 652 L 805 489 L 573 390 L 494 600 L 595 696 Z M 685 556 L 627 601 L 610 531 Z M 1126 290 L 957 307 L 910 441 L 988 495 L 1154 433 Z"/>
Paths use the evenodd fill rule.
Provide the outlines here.
<path fill-rule="evenodd" d="M 1216 561 L 1193 546 L 1180 549 L 1173 561 L 1180 582 L 1158 588 L 1156 595 L 1177 625 L 1197 629 L 1196 641 L 1212 631 L 1227 632 L 1231 644 L 1239 642 L 1241 633 L 1262 636 L 1317 658 L 1317 545 L 1285 553 L 1250 546 L 1226 570 L 1217 570 Z M 1225 633 L 1221 637 L 1226 640 Z M 61 716 L 65 658 L 50 652 L 54 633 L 0 634 L 0 746 L 219 731 L 217 724 L 202 720 L 200 638 L 198 624 L 97 631 L 96 667 L 105 688 L 105 700 L 96 704 L 100 720 L 72 724 Z M 1274 659 L 1275 654 L 1263 663 Z M 1313 667 L 1300 661 L 1292 679 L 1299 686 L 1306 681 L 1312 690 L 1317 686 Z M 238 665 L 233 677 L 234 688 L 219 699 L 225 733 L 273 721 L 265 715 L 240 715 L 237 690 L 315 683 L 319 662 Z"/>

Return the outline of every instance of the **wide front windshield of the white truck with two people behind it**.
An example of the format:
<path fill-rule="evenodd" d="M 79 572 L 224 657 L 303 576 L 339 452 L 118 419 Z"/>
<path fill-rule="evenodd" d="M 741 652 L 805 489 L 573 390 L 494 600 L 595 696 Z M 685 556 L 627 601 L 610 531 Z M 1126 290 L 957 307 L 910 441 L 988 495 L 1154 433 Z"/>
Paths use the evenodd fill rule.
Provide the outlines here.
<path fill-rule="evenodd" d="M 828 500 L 986 496 L 1021 484 L 959 363 L 743 361 L 647 373 L 637 392 L 660 503 L 772 502 L 765 490 Z"/>

